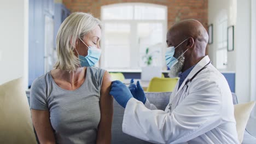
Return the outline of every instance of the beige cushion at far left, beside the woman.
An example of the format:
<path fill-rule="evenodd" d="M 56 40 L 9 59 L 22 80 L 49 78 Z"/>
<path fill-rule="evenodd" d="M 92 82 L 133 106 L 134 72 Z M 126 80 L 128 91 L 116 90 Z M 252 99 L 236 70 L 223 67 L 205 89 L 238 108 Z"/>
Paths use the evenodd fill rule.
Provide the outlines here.
<path fill-rule="evenodd" d="M 22 79 L 0 85 L 0 143 L 37 143 Z"/>

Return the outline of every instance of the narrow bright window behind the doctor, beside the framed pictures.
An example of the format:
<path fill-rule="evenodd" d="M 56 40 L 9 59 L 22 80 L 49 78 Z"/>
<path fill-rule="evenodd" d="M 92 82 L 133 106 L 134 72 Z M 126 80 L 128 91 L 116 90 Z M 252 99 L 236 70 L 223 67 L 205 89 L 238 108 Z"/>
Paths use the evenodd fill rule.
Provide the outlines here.
<path fill-rule="evenodd" d="M 228 44 L 227 44 L 227 35 L 228 35 L 228 16 L 223 15 L 218 21 L 218 45 L 216 53 L 216 62 L 218 69 L 225 69 L 228 64 Z"/>

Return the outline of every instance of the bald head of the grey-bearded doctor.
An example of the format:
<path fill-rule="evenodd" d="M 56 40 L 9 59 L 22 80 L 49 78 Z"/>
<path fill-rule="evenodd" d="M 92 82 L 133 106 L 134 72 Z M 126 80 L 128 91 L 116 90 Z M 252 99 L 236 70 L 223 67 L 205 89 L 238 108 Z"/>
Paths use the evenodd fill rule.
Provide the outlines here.
<path fill-rule="evenodd" d="M 184 60 L 181 69 L 185 71 L 205 57 L 208 33 L 199 21 L 184 20 L 169 29 L 166 43 L 177 48 L 174 57 Z"/>

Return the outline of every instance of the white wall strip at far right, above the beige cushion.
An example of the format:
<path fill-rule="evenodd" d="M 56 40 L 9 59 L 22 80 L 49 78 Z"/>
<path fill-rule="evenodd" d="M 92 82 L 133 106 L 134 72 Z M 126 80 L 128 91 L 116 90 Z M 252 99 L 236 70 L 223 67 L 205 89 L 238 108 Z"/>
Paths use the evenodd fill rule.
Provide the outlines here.
<path fill-rule="evenodd" d="M 251 100 L 251 1 L 254 0 L 237 0 L 237 23 L 235 32 L 236 48 L 236 93 L 238 100 L 243 103 Z M 253 39 L 255 41 L 255 39 Z M 255 74 L 253 74 L 255 75 Z M 255 81 L 255 80 L 253 80 Z M 254 97 L 256 97 L 254 95 Z"/>

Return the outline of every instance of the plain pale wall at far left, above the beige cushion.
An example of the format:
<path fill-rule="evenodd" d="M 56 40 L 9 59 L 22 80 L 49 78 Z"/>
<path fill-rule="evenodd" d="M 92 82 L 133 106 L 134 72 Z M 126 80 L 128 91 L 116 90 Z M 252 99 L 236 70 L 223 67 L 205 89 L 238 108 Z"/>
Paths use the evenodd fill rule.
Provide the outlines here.
<path fill-rule="evenodd" d="M 28 0 L 0 4 L 0 84 L 24 77 L 28 83 Z"/>

